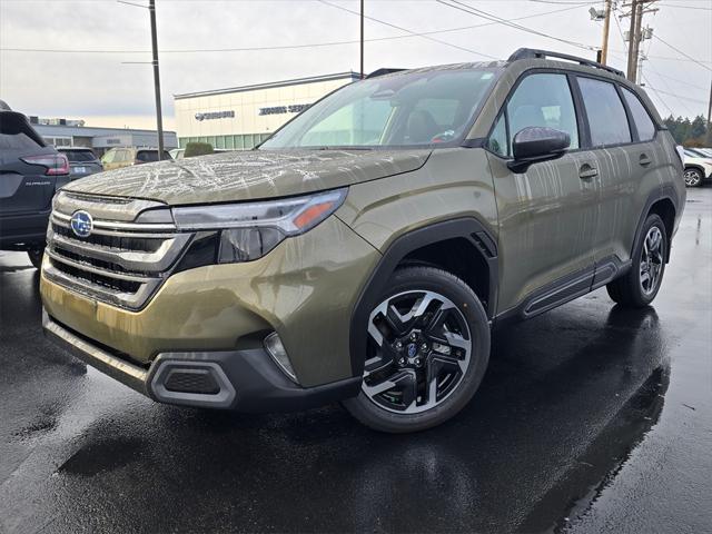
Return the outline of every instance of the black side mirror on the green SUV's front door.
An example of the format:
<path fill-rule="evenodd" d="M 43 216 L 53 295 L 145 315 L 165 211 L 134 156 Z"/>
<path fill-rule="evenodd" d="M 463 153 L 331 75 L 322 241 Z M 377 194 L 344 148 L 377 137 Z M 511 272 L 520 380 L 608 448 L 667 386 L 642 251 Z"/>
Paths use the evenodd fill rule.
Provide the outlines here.
<path fill-rule="evenodd" d="M 507 167 L 517 174 L 526 172 L 533 164 L 561 158 L 570 146 L 571 137 L 564 131 L 537 126 L 523 128 L 514 136 L 514 160 Z"/>

